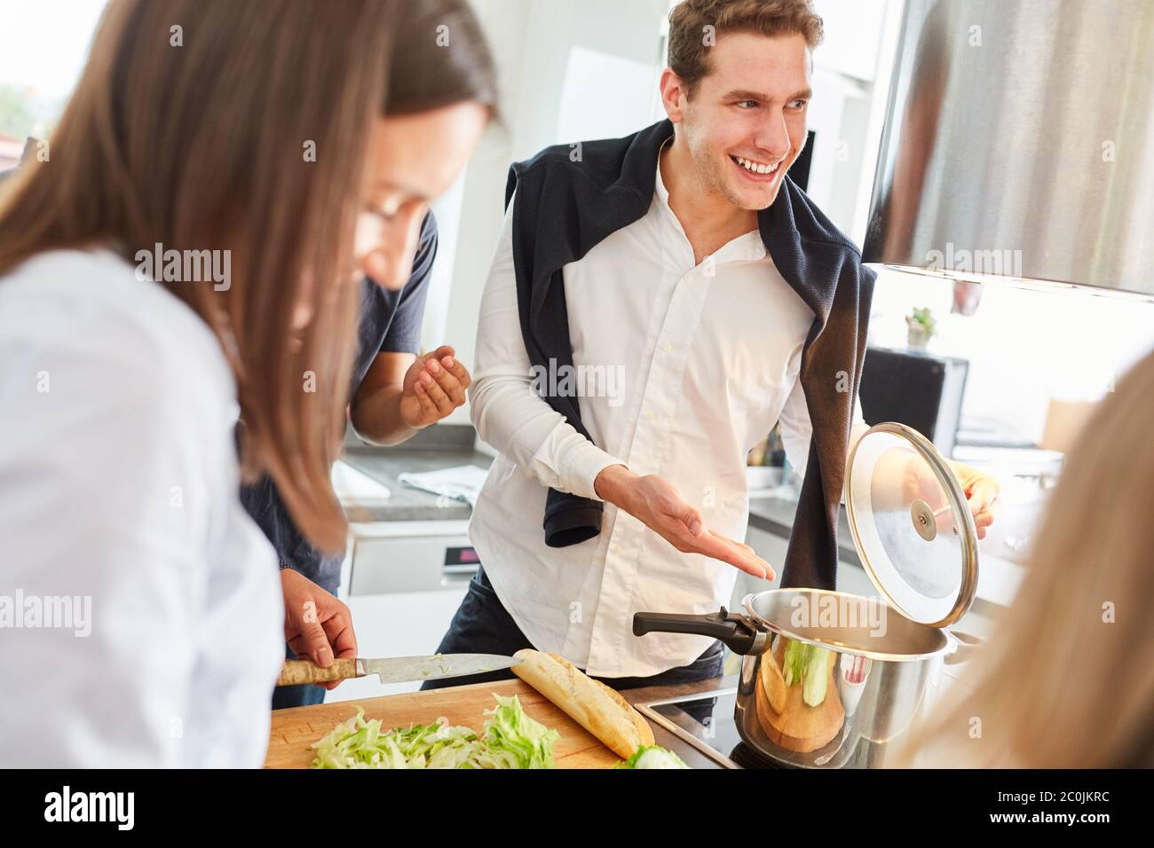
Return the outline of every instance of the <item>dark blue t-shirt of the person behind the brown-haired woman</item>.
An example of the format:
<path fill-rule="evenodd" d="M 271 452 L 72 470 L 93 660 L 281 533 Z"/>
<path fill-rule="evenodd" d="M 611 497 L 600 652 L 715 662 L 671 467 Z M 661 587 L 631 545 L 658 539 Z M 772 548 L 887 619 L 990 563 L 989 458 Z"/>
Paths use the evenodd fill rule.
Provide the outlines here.
<path fill-rule="evenodd" d="M 379 353 L 418 353 L 421 318 L 428 294 L 429 272 L 436 256 L 436 222 L 433 212 L 421 223 L 413 272 L 399 292 L 390 292 L 369 279 L 361 282 L 360 327 L 350 398 Z M 340 581 L 343 557 L 324 556 L 300 534 L 272 480 L 263 476 L 240 489 L 240 502 L 277 550 L 280 568 L 299 571 L 332 594 Z"/>

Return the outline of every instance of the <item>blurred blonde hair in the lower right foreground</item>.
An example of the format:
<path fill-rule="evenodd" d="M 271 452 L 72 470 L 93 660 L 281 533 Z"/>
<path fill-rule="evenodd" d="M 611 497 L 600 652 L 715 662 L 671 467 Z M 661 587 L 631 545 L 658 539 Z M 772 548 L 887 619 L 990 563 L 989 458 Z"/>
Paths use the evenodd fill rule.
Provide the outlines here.
<path fill-rule="evenodd" d="M 1154 766 L 1152 422 L 1154 353 L 1066 455 L 975 689 L 928 716 L 897 765 Z"/>

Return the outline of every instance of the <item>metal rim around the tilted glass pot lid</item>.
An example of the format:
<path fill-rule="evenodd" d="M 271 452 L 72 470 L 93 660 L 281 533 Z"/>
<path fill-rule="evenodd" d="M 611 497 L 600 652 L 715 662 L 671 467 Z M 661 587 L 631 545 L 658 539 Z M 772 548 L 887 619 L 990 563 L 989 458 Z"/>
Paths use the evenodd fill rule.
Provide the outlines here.
<path fill-rule="evenodd" d="M 964 521 L 965 532 L 959 534 L 962 556 L 961 591 L 958 593 L 958 599 L 954 601 L 950 611 L 936 622 L 922 622 L 907 615 L 901 608 L 901 605 L 899 605 L 886 591 L 885 585 L 874 571 L 874 564 L 870 562 L 869 556 L 867 556 L 865 551 L 862 549 L 861 534 L 857 531 L 857 516 L 854 510 L 853 498 L 849 496 L 849 479 L 853 474 L 854 458 L 857 456 L 857 449 L 871 433 L 890 433 L 909 442 L 909 444 L 913 445 L 917 453 L 926 460 L 927 465 L 934 470 L 935 476 L 937 476 L 938 482 L 944 489 L 946 489 L 950 497 L 953 500 L 956 512 L 961 516 Z M 974 596 L 977 592 L 977 545 L 975 541 L 977 539 L 977 528 L 974 525 L 974 517 L 966 506 L 966 495 L 958 485 L 958 479 L 949 470 L 945 464 L 945 458 L 938 452 L 937 448 L 934 446 L 932 442 L 912 427 L 907 427 L 906 425 L 898 423 L 896 421 L 885 421 L 883 423 L 874 425 L 865 430 L 864 434 L 862 434 L 862 436 L 854 443 L 853 449 L 849 451 L 849 458 L 846 461 L 846 476 L 842 483 L 842 491 L 845 493 L 846 501 L 846 517 L 849 520 L 849 534 L 853 536 L 854 549 L 857 551 L 857 557 L 861 560 L 862 568 L 865 569 L 865 573 L 869 576 L 870 583 L 874 584 L 874 587 L 882 593 L 886 603 L 892 607 L 898 615 L 901 615 L 916 624 L 923 624 L 928 628 L 936 628 L 941 630 L 942 628 L 946 628 L 957 622 L 969 610 L 971 606 L 974 603 Z"/>

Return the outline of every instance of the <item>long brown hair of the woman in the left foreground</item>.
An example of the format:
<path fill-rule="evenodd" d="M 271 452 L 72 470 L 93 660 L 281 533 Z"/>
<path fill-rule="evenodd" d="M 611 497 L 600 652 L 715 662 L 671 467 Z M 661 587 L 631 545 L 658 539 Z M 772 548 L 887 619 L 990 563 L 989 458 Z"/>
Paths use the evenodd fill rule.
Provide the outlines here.
<path fill-rule="evenodd" d="M 232 366 L 245 479 L 268 473 L 301 532 L 342 550 L 329 473 L 373 123 L 395 107 L 494 111 L 493 76 L 464 0 L 112 0 L 50 162 L 5 186 L 0 275 L 58 248 L 112 245 L 129 262 L 157 243 L 228 250 L 225 291 L 160 284 Z M 301 313 L 312 317 L 295 331 Z"/>

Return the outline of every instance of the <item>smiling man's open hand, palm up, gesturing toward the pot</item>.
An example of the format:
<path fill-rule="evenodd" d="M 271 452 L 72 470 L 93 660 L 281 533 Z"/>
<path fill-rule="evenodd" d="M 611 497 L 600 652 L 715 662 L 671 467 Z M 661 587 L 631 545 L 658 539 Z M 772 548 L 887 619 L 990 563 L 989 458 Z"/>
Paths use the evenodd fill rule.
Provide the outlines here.
<path fill-rule="evenodd" d="M 610 465 L 593 481 L 598 497 L 616 504 L 683 554 L 703 554 L 764 580 L 773 569 L 748 545 L 705 526 L 673 485 L 657 474 L 638 476 L 624 465 Z"/>

